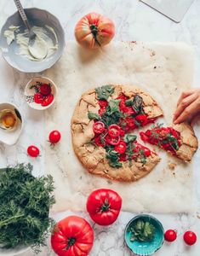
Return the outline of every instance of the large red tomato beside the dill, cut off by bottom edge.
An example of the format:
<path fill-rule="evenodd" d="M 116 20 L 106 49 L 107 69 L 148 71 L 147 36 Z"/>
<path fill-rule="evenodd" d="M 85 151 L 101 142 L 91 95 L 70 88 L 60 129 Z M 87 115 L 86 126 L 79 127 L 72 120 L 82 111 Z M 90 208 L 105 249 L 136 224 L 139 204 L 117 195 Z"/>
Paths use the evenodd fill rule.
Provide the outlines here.
<path fill-rule="evenodd" d="M 88 256 L 94 243 L 94 232 L 89 223 L 77 216 L 63 218 L 51 236 L 51 246 L 59 256 Z"/>

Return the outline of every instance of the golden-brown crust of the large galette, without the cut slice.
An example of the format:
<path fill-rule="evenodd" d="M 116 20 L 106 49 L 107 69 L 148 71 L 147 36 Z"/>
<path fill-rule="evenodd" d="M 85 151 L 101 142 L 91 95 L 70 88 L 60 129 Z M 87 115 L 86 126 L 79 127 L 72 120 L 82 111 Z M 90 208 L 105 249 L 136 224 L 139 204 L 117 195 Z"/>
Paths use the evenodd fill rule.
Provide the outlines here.
<path fill-rule="evenodd" d="M 115 87 L 115 91 L 111 95 L 112 98 L 117 98 L 120 93 L 129 97 L 137 94 L 142 97 L 143 109 L 149 118 L 157 118 L 163 115 L 163 111 L 159 108 L 157 102 L 145 91 L 129 85 L 111 85 Z M 123 162 L 123 167 L 113 168 L 109 166 L 106 159 L 106 150 L 89 143 L 94 137 L 94 121 L 88 118 L 88 113 L 89 111 L 98 113 L 99 109 L 94 89 L 83 93 L 77 102 L 71 119 L 71 134 L 73 148 L 78 159 L 90 173 L 112 180 L 134 182 L 146 176 L 159 162 L 160 158 L 157 154 L 151 154 L 147 157 L 145 165 L 133 161 L 133 166 L 129 166 L 129 162 Z"/>

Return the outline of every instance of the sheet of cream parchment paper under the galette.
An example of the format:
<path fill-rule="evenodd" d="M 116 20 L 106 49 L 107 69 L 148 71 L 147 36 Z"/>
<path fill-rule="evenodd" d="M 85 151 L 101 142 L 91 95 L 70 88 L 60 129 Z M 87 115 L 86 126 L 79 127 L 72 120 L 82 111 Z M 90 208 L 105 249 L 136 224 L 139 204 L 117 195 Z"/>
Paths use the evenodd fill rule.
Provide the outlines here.
<path fill-rule="evenodd" d="M 123 197 L 130 212 L 193 212 L 192 164 L 182 164 L 163 151 L 154 170 L 136 183 L 117 183 L 91 175 L 83 168 L 71 144 L 71 116 L 81 94 L 104 84 L 134 84 L 146 90 L 163 108 L 169 125 L 178 97 L 192 83 L 193 53 L 181 43 L 109 44 L 97 51 L 66 43 L 60 61 L 46 75 L 58 86 L 54 107 L 46 112 L 45 129 L 58 129 L 62 138 L 54 148 L 46 144 L 46 172 L 55 181 L 54 211 L 84 210 L 94 189 L 110 188 Z M 150 147 L 148 145 L 148 147 Z M 150 147 L 151 148 L 151 147 Z M 156 148 L 156 151 L 159 149 Z M 169 162 L 177 166 L 169 169 Z"/>

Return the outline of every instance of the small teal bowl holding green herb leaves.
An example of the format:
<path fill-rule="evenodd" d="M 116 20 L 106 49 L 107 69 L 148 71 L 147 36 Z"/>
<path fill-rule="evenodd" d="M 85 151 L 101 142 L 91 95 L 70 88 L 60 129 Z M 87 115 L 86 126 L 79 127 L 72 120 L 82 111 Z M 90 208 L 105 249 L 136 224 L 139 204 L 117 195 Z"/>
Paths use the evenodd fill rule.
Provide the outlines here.
<path fill-rule="evenodd" d="M 163 225 L 147 214 L 140 214 L 129 221 L 125 229 L 125 242 L 129 249 L 141 256 L 151 255 L 162 247 Z"/>

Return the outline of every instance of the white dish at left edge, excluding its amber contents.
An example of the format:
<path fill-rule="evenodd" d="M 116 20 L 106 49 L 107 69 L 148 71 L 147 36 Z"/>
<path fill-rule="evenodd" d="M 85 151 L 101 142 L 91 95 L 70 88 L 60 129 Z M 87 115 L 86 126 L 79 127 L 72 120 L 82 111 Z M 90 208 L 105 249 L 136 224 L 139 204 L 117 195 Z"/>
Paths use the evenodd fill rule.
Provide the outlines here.
<path fill-rule="evenodd" d="M 0 111 L 2 111 L 3 109 L 10 109 L 16 114 L 18 119 L 17 126 L 13 131 L 3 130 L 0 128 L 0 143 L 5 143 L 11 146 L 14 145 L 20 137 L 20 133 L 23 128 L 23 119 L 19 109 L 14 106 L 14 104 L 11 104 L 9 102 L 0 103 Z"/>

